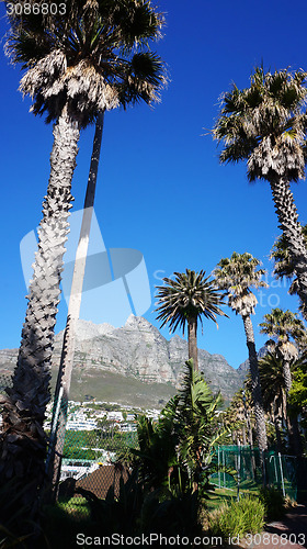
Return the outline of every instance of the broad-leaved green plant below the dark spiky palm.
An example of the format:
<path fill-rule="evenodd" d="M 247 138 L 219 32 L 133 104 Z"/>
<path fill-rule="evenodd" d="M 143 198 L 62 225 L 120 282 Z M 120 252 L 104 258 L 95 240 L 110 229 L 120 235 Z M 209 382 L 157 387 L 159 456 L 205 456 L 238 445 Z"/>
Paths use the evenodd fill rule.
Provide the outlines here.
<path fill-rule="evenodd" d="M 132 449 L 140 480 L 149 490 L 168 488 L 174 494 L 196 491 L 201 477 L 212 472 L 214 445 L 225 434 L 216 422 L 220 395 L 213 395 L 193 361 L 185 362 L 181 386 L 155 424 L 138 417 L 138 449 Z M 203 479 L 204 480 L 204 479 Z"/>

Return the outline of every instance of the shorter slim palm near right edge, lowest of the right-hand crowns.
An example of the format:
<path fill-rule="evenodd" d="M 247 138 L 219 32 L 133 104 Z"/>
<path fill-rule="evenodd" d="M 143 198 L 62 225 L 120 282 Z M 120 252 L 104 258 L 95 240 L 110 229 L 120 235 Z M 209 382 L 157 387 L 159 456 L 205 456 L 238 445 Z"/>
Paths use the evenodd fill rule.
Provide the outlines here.
<path fill-rule="evenodd" d="M 304 324 L 297 317 L 297 314 L 276 307 L 272 309 L 271 313 L 264 315 L 264 322 L 260 324 L 260 327 L 261 334 L 266 334 L 273 339 L 276 355 L 282 359 L 286 405 L 287 410 L 289 410 L 287 396 L 292 386 L 291 362 L 298 358 L 297 346 L 291 339 L 296 343 L 305 336 Z M 291 414 L 287 414 L 287 425 L 294 450 L 299 455 L 302 452 L 302 444 L 297 418 L 295 416 L 291 417 Z"/>

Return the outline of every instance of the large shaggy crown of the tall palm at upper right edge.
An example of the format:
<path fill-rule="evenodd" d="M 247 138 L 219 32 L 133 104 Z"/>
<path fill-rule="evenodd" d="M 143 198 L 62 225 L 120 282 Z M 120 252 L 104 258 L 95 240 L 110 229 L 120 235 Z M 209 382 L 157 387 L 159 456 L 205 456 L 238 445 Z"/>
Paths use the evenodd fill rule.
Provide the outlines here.
<path fill-rule="evenodd" d="M 250 88 L 223 96 L 223 108 L 213 134 L 225 148 L 220 161 L 248 160 L 250 181 L 275 175 L 297 181 L 305 177 L 307 117 L 306 72 L 287 69 L 264 74 L 255 68 Z"/>

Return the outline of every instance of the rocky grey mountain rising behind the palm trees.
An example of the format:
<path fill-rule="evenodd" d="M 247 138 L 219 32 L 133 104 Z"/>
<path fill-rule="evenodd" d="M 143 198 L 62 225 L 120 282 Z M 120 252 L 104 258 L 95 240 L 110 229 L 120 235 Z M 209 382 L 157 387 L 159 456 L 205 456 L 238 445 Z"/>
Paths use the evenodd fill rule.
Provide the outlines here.
<path fill-rule="evenodd" d="M 53 382 L 60 360 L 62 335 L 55 337 Z M 0 350 L 0 370 L 10 372 L 18 349 Z M 182 366 L 187 359 L 187 343 L 179 336 L 167 340 L 148 321 L 130 315 L 121 328 L 79 321 L 71 399 L 93 396 L 96 400 L 126 404 L 163 405 L 180 383 Z M 200 370 L 212 390 L 220 390 L 226 401 L 241 386 L 242 372 L 228 365 L 221 355 L 198 351 Z M 138 404 L 140 405 L 140 404 Z"/>

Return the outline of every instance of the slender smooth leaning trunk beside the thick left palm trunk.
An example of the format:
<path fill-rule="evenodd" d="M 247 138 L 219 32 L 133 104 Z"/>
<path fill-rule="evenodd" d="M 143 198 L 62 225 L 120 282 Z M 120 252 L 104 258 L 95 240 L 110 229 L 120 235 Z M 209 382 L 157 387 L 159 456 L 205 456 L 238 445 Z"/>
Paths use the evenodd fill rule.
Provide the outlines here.
<path fill-rule="evenodd" d="M 104 112 L 100 112 L 96 119 L 95 135 L 93 141 L 93 150 L 91 157 L 90 172 L 88 179 L 87 193 L 84 199 L 84 209 L 82 224 L 80 229 L 79 243 L 76 253 L 73 276 L 68 305 L 68 315 L 64 333 L 64 343 L 58 370 L 57 384 L 54 397 L 54 413 L 52 422 L 52 436 L 47 456 L 46 470 L 53 477 L 55 491 L 60 475 L 61 456 L 65 442 L 65 430 L 67 423 L 67 408 L 71 373 L 75 356 L 75 339 L 77 321 L 80 314 L 82 288 L 84 280 L 87 254 L 90 239 L 91 221 L 94 206 L 96 177 L 99 159 L 101 152 L 102 132 L 103 132 Z M 56 413 L 58 410 L 58 414 Z"/>

